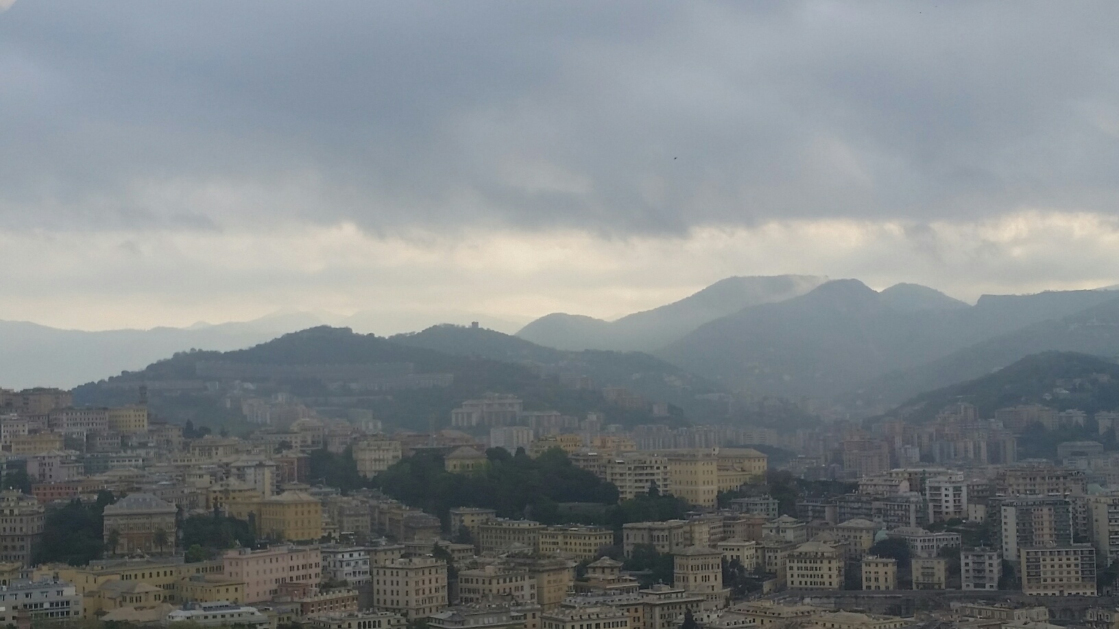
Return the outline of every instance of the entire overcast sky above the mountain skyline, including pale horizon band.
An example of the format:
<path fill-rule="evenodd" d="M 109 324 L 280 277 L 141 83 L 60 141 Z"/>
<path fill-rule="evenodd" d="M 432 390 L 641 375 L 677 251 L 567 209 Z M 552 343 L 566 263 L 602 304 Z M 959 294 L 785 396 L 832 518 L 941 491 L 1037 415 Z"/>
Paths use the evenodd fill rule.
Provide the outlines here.
<path fill-rule="evenodd" d="M 1117 25 L 1102 1 L 18 0 L 0 319 L 387 334 L 728 275 L 1119 283 Z"/>

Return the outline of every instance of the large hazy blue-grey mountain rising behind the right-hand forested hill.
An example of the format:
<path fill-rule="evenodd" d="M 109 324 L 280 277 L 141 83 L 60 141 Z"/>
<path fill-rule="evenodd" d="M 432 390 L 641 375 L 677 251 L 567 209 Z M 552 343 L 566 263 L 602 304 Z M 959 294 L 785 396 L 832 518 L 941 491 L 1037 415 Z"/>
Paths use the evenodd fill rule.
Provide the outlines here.
<path fill-rule="evenodd" d="M 857 280 L 828 282 L 706 323 L 655 354 L 735 391 L 831 398 L 891 372 L 1115 299 L 1100 291 L 984 295 L 974 307 L 914 310 L 899 308 L 890 292 Z"/>

